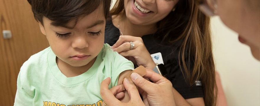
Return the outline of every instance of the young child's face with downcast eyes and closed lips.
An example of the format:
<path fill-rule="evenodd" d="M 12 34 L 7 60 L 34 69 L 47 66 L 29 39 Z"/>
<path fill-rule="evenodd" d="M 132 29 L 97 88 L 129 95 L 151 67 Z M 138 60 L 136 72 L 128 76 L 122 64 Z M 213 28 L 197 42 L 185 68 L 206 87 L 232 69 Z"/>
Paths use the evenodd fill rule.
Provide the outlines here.
<path fill-rule="evenodd" d="M 51 22 L 43 17 L 44 27 L 40 24 L 40 29 L 57 59 L 74 67 L 95 61 L 104 44 L 105 16 L 102 8 L 79 17 L 76 25 L 75 20 L 71 20 L 66 26 L 73 29 L 53 26 Z"/>

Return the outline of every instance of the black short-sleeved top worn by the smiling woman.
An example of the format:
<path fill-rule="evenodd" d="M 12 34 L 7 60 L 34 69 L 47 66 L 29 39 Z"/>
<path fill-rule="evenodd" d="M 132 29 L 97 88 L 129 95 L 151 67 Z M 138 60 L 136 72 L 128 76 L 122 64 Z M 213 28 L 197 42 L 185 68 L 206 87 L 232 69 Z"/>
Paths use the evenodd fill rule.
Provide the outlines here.
<path fill-rule="evenodd" d="M 116 43 L 119 36 L 119 29 L 113 25 L 111 19 L 108 19 L 105 26 L 105 43 L 112 46 Z M 181 72 L 178 62 L 178 53 L 182 41 L 167 46 L 160 43 L 160 38 L 155 37 L 157 37 L 156 33 L 144 35 L 142 39 L 150 54 L 161 52 L 164 66 L 167 71 L 167 76 L 165 77 L 172 82 L 173 87 L 184 97 L 184 99 L 204 97 L 202 86 L 190 86 L 189 83 L 185 81 Z"/>

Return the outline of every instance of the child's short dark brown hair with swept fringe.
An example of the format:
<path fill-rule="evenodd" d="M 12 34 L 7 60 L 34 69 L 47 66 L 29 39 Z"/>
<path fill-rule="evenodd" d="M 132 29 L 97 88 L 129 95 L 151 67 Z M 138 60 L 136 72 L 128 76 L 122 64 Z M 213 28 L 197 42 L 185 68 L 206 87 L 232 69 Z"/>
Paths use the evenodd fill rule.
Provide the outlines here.
<path fill-rule="evenodd" d="M 105 19 L 109 15 L 111 0 L 27 0 L 36 21 L 43 25 L 43 16 L 54 26 L 66 26 L 71 19 L 88 15 L 102 5 Z M 76 24 L 76 23 L 75 23 Z"/>

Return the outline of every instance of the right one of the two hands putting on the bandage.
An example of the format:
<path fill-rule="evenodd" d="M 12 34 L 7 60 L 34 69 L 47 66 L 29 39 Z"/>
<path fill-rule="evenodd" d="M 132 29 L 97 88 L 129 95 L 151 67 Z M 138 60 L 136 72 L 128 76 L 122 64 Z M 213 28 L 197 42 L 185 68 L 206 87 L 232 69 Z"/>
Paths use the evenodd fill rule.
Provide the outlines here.
<path fill-rule="evenodd" d="M 139 93 L 143 97 L 146 106 L 175 106 L 172 83 L 165 77 L 147 69 L 144 78 L 137 73 L 131 74 L 131 79 L 139 87 Z"/>

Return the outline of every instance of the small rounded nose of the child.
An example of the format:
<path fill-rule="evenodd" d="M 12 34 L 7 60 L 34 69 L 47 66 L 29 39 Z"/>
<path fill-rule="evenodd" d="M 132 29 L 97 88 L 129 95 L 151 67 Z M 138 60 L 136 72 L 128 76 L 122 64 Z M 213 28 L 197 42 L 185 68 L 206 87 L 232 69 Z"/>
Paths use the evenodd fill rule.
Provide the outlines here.
<path fill-rule="evenodd" d="M 85 37 L 77 37 L 72 42 L 73 48 L 83 49 L 83 48 L 88 47 L 88 46 L 89 46 L 88 41 Z"/>

